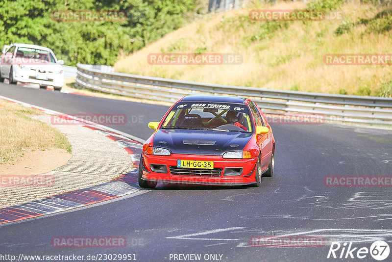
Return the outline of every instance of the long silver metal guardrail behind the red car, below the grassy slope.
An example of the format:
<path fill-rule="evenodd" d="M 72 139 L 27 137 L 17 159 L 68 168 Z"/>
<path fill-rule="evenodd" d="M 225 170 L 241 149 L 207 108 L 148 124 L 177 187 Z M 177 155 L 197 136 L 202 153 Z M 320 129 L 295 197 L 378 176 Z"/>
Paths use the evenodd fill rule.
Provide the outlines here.
<path fill-rule="evenodd" d="M 392 125 L 392 98 L 348 96 L 205 84 L 103 72 L 77 64 L 75 85 L 137 99 L 173 103 L 185 95 L 233 95 L 251 98 L 266 113 L 323 114 L 326 120 Z"/>

